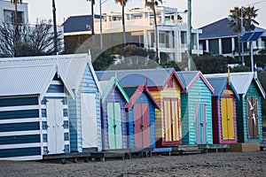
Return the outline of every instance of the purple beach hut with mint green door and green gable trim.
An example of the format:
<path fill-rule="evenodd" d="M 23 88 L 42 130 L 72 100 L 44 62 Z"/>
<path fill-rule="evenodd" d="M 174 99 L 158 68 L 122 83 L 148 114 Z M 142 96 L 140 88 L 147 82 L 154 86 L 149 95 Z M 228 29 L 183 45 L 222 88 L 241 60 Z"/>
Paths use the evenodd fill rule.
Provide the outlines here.
<path fill-rule="evenodd" d="M 103 150 L 128 148 L 126 104 L 129 96 L 117 78 L 99 81 L 101 93 Z"/>

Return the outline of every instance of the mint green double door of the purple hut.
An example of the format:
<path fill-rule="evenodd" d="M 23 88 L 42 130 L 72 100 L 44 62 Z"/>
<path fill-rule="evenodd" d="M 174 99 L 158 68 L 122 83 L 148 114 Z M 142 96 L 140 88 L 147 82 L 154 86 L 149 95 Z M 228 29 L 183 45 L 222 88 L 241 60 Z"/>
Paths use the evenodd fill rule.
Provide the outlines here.
<path fill-rule="evenodd" d="M 121 149 L 121 104 L 107 103 L 109 149 Z"/>

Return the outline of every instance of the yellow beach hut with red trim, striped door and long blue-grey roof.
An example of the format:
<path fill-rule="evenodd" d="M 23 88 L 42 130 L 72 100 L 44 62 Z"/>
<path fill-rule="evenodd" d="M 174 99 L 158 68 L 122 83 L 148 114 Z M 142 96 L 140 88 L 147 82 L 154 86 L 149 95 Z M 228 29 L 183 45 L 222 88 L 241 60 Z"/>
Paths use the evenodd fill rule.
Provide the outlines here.
<path fill-rule="evenodd" d="M 111 78 L 116 74 L 123 87 L 143 85 L 147 79 L 147 87 L 160 106 L 160 111 L 155 111 L 157 147 L 182 143 L 180 92 L 184 87 L 175 69 L 120 70 L 97 74 L 101 79 Z"/>

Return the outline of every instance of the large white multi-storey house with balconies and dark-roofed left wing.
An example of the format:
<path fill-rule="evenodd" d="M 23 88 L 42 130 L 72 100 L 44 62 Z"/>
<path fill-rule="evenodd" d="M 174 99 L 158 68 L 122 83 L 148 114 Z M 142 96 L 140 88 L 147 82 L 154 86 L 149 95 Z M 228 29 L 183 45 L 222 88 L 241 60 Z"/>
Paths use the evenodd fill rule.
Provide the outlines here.
<path fill-rule="evenodd" d="M 158 21 L 158 40 L 159 40 L 159 58 L 160 62 L 176 61 L 181 62 L 182 58 L 187 56 L 187 23 L 183 21 L 180 12 L 176 8 L 158 6 L 156 7 Z M 154 20 L 151 9 L 135 8 L 124 12 L 126 24 L 126 42 L 134 43 L 138 47 L 147 50 L 155 50 L 154 43 Z M 102 34 L 103 48 L 110 49 L 113 46 L 122 43 L 122 27 L 121 27 L 121 12 L 106 12 L 102 14 L 102 22 L 99 21 L 99 16 L 96 15 L 94 21 L 94 30 L 96 38 Z M 73 21 L 74 25 L 70 25 Z M 86 29 L 86 26 L 91 26 L 90 16 L 75 16 L 70 17 L 69 21 L 63 24 L 65 31 L 66 49 L 71 51 L 79 46 L 73 46 L 74 41 L 85 42 L 81 35 L 91 34 L 91 30 Z M 87 24 L 87 25 L 86 25 Z M 102 30 L 101 30 L 102 27 Z M 192 53 L 200 55 L 203 51 L 200 49 L 199 35 L 201 29 L 192 29 Z M 83 36 L 86 37 L 86 36 Z M 98 37 L 100 39 L 100 37 Z M 95 41 L 95 45 L 100 46 L 100 40 Z M 80 45 L 78 43 L 76 45 Z"/>

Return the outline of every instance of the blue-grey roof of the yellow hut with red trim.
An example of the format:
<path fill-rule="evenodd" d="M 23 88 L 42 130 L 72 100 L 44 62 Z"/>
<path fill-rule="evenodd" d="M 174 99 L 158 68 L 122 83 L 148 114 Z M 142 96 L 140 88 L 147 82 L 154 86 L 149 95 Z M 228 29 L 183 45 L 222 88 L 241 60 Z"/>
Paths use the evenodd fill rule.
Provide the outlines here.
<path fill-rule="evenodd" d="M 174 74 L 181 88 L 184 89 L 174 68 L 99 71 L 96 73 L 99 81 L 109 80 L 111 77 L 116 76 L 123 87 L 143 85 L 147 80 L 147 87 L 149 88 L 163 87 L 167 83 L 169 77 Z"/>

